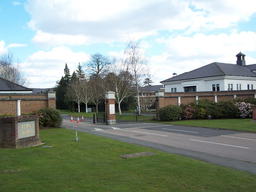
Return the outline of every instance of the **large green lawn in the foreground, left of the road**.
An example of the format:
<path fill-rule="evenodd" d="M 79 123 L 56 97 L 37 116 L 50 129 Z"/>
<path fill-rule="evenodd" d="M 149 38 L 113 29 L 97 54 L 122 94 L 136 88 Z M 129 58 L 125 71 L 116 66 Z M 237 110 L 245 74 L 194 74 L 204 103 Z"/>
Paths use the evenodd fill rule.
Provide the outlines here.
<path fill-rule="evenodd" d="M 2 192 L 252 192 L 256 175 L 63 128 L 42 146 L 0 149 Z M 156 152 L 131 159 L 121 154 Z"/>

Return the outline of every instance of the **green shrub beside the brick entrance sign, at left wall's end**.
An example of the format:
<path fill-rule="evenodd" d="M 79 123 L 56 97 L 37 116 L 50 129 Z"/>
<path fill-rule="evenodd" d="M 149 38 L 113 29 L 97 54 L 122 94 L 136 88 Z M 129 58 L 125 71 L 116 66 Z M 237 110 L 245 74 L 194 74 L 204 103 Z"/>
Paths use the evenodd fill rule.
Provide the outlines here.
<path fill-rule="evenodd" d="M 39 128 L 59 127 L 62 124 L 62 117 L 56 109 L 41 108 L 34 114 L 39 116 Z"/>

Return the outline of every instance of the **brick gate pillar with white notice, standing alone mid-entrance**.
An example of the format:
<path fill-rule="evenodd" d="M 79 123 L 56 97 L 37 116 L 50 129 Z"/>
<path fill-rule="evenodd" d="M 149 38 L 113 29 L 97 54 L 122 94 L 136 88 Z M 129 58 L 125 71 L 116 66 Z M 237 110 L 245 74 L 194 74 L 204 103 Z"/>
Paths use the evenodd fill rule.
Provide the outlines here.
<path fill-rule="evenodd" d="M 106 92 L 106 113 L 107 113 L 107 124 L 116 124 L 116 114 L 115 114 L 115 92 Z"/>

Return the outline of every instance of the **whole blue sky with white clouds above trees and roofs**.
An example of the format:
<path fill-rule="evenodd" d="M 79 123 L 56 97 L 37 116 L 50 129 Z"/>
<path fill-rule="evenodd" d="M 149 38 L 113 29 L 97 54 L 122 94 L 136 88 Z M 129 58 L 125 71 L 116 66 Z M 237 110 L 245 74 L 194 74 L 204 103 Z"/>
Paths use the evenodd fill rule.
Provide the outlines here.
<path fill-rule="evenodd" d="M 28 88 L 52 88 L 79 62 L 122 57 L 140 41 L 155 85 L 212 62 L 256 64 L 255 0 L 0 0 L 0 54 L 10 52 Z M 153 84 L 153 85 L 154 85 Z"/>

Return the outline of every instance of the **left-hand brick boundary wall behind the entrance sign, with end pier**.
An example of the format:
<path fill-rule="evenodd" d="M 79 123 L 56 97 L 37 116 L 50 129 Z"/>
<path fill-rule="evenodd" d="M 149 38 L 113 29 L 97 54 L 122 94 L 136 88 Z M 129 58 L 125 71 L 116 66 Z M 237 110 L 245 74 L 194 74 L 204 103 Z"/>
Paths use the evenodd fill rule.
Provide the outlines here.
<path fill-rule="evenodd" d="M 56 109 L 55 92 L 46 94 L 0 94 L 0 115 L 17 115 L 17 100 L 21 100 L 21 114 L 37 111 L 43 107 Z"/>

